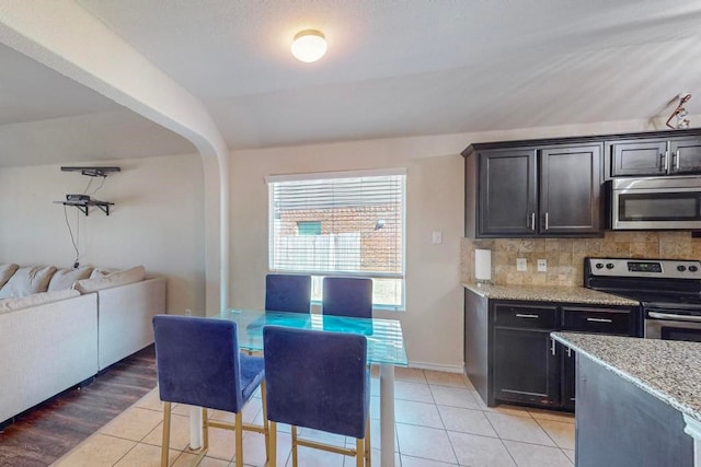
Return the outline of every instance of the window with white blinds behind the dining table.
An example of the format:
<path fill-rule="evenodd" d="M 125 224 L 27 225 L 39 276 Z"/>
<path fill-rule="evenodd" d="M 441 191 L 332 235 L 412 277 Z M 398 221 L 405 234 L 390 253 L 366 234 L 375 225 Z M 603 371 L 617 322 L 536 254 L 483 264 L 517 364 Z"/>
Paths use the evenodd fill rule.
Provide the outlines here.
<path fill-rule="evenodd" d="M 405 171 L 271 176 L 269 269 L 369 277 L 376 306 L 404 305 Z"/>

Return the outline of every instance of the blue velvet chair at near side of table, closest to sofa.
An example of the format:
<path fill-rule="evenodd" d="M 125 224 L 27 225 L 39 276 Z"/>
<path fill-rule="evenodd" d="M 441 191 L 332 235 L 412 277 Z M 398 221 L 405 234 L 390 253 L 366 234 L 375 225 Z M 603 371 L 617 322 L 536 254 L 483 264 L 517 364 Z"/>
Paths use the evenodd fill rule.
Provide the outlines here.
<path fill-rule="evenodd" d="M 239 352 L 235 323 L 156 315 L 153 335 L 158 386 L 161 400 L 165 402 L 161 466 L 168 466 L 171 402 L 203 408 L 203 448 L 197 464 L 209 446 L 209 427 L 234 431 L 237 466 L 243 465 L 243 430 L 263 433 L 268 446 L 265 364 L 261 357 Z M 263 399 L 263 425 L 244 424 L 241 410 L 258 386 Z M 235 422 L 209 420 L 208 408 L 235 413 Z"/>

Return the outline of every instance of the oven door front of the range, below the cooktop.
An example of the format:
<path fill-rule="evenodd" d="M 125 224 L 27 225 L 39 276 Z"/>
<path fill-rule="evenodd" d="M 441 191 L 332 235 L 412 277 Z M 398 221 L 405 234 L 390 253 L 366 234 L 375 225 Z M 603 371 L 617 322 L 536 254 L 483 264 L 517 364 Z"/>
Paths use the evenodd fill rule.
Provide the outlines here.
<path fill-rule="evenodd" d="M 701 342 L 701 315 L 690 313 L 645 308 L 645 338 Z"/>

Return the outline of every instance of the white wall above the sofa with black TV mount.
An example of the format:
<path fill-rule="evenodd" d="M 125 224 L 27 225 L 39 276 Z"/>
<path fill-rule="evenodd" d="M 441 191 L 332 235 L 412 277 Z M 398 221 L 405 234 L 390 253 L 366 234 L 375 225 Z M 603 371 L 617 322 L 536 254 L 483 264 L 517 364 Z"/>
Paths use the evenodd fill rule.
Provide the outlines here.
<path fill-rule="evenodd" d="M 60 165 L 90 165 L 64 163 Z M 71 267 L 74 250 L 64 207 L 66 194 L 82 194 L 91 179 L 60 165 L 0 170 L 0 262 Z M 105 268 L 143 265 L 168 278 L 168 310 L 197 313 L 205 304 L 203 164 L 199 155 L 104 162 L 110 175 L 94 198 L 112 201 L 110 215 L 88 217 L 66 208 L 78 235 L 80 264 Z M 92 180 L 91 190 L 102 178 Z M 202 313 L 204 315 L 204 313 Z"/>

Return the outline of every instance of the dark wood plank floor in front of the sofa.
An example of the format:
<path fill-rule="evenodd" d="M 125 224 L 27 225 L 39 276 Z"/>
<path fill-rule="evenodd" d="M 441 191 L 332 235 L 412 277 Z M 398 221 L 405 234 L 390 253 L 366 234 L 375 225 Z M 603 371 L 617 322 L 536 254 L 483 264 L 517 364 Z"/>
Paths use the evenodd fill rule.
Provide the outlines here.
<path fill-rule="evenodd" d="M 0 466 L 48 466 L 156 387 L 153 346 L 117 362 L 0 431 Z"/>

